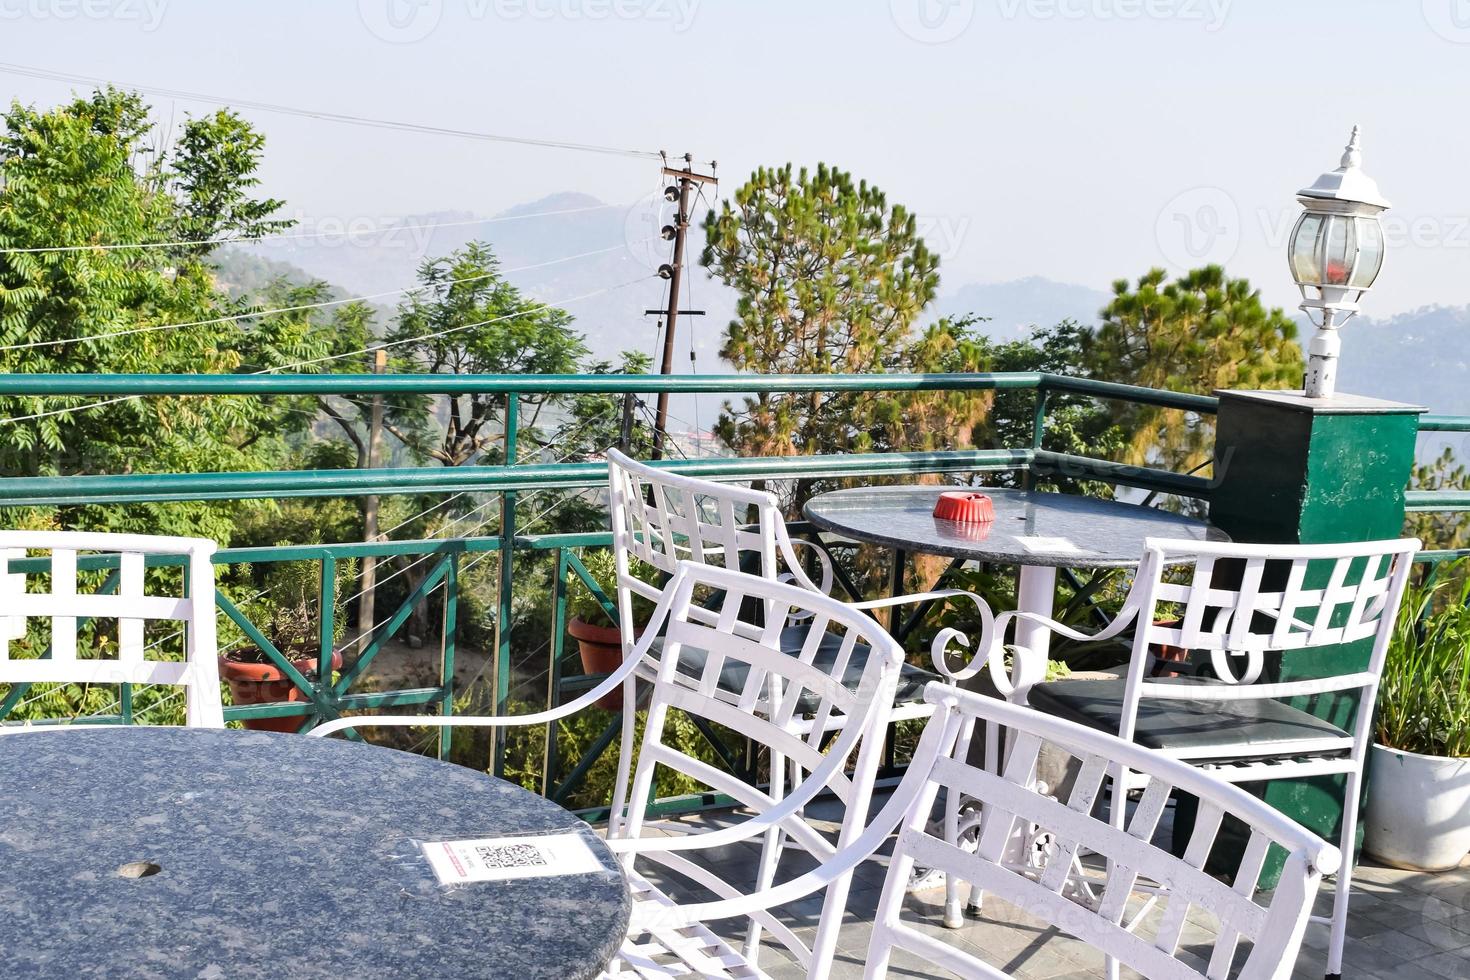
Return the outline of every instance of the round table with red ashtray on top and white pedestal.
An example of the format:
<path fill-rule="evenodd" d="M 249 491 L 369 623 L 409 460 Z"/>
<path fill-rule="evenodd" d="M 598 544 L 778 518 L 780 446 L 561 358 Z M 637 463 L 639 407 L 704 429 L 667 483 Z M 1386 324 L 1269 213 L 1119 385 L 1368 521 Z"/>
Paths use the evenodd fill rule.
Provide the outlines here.
<path fill-rule="evenodd" d="M 973 489 L 991 498 L 995 520 L 961 523 L 933 516 L 939 494 Z M 903 551 L 1020 566 L 1016 605 L 1051 616 L 1057 569 L 1129 569 L 1144 555 L 1145 538 L 1229 541 L 1202 520 L 1152 507 L 1095 497 L 1044 494 L 995 486 L 872 486 L 819 494 L 807 520 L 853 541 Z M 1045 629 L 1025 620 L 1016 642 L 1048 648 Z"/>

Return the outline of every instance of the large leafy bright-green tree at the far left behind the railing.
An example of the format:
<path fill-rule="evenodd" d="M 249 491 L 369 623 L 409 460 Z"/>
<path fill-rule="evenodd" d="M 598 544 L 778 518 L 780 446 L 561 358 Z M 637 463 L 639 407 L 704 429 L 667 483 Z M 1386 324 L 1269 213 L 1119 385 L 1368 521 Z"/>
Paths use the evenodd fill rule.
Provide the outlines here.
<path fill-rule="evenodd" d="M 213 279 L 209 247 L 101 248 L 166 242 L 181 229 L 243 231 L 265 220 L 248 188 L 260 143 L 216 115 L 185 126 L 171 157 L 151 148 L 147 106 L 113 88 L 51 110 L 12 104 L 0 131 L 0 372 L 234 372 L 322 351 L 304 317 L 254 334 L 219 317 L 247 311 Z M 238 145 L 210 163 L 210 140 Z M 190 188 L 197 188 L 198 192 Z M 204 188 L 212 188 L 207 192 Z M 40 251 L 75 248 L 75 251 Z M 31 250 L 31 251 L 26 251 Z M 216 320 L 216 322 L 201 322 Z M 185 326 L 173 326 L 173 325 Z M 9 476 L 254 470 L 306 425 L 290 400 L 148 397 L 0 398 L 0 472 Z M 229 539 L 234 504 L 87 507 L 60 526 L 179 530 Z"/>

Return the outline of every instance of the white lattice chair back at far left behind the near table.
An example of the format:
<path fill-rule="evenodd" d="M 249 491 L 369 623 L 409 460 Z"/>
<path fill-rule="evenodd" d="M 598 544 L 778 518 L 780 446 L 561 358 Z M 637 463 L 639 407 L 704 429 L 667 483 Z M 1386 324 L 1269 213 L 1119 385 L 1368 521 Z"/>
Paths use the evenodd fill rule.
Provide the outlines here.
<path fill-rule="evenodd" d="M 215 542 L 203 538 L 0 532 L 0 683 L 176 685 L 190 726 L 223 727 L 213 552 Z M 178 594 L 148 594 L 148 555 L 184 557 Z M 78 586 L 87 566 L 98 569 L 97 592 Z M 103 624 L 112 621 L 109 636 Z M 160 621 L 182 632 L 182 661 L 150 657 L 163 644 L 147 644 L 147 626 Z M 100 642 L 79 651 L 78 632 L 88 626 Z M 15 730 L 0 726 L 0 733 Z"/>

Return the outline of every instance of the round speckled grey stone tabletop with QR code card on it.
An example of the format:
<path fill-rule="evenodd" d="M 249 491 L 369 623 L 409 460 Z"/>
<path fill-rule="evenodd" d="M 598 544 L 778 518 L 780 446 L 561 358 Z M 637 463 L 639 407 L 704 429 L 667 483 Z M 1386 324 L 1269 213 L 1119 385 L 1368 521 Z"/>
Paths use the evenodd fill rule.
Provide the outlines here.
<path fill-rule="evenodd" d="M 417 843 L 556 830 L 603 870 L 447 887 Z M 629 909 L 585 824 L 459 765 L 266 732 L 0 736 L 6 976 L 594 977 Z"/>

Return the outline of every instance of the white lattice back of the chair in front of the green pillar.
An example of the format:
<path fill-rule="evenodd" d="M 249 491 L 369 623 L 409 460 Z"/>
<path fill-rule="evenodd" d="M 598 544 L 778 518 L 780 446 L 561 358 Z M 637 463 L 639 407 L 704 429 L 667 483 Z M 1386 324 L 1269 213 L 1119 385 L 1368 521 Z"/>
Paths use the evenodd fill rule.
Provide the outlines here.
<path fill-rule="evenodd" d="M 1258 699 L 1357 691 L 1372 704 L 1394 621 L 1420 542 L 1369 541 L 1329 545 L 1238 545 L 1150 539 L 1129 597 L 1138 629 L 1129 666 L 1123 738 L 1139 698 Z M 1172 580 L 1172 567 L 1186 580 Z M 1222 585 L 1227 564 L 1232 585 Z M 1263 682 L 1267 654 L 1327 648 L 1372 639 L 1367 669 L 1342 658 L 1324 676 Z M 1222 685 L 1176 685 L 1148 679 L 1150 649 L 1210 651 Z M 1329 661 L 1330 663 L 1330 661 Z M 1361 711 L 1366 733 L 1367 716 Z"/>

